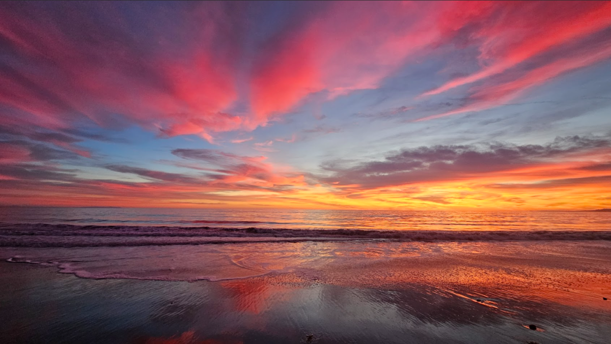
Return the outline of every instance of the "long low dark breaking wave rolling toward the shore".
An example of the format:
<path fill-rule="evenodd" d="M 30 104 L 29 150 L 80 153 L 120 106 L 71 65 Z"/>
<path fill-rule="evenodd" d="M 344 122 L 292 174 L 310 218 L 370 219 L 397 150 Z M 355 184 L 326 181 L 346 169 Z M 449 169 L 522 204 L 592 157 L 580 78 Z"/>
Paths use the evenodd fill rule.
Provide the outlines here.
<path fill-rule="evenodd" d="M 360 230 L 0 224 L 0 246 L 4 247 L 148 246 L 329 240 L 611 240 L 611 230 Z"/>

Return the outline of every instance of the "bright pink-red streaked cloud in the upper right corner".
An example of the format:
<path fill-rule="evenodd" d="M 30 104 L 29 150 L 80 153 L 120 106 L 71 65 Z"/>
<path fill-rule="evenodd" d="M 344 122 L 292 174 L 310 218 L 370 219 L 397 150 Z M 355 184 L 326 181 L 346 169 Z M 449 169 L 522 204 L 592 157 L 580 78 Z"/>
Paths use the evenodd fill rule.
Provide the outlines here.
<path fill-rule="evenodd" d="M 601 31 L 611 25 L 610 13 L 611 2 L 496 2 L 486 24 L 471 33 L 481 41 L 478 58 L 486 67 L 423 95 L 497 75 L 551 48 Z"/>

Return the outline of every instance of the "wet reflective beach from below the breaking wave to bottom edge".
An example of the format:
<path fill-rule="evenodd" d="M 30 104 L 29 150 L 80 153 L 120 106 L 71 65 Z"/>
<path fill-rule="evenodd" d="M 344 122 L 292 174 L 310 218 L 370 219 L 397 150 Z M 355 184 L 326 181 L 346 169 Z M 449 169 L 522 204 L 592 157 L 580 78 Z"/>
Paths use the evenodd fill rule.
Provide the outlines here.
<path fill-rule="evenodd" d="M 314 334 L 317 343 L 606 343 L 610 248 L 327 242 L 7 249 L 2 258 L 19 251 L 20 260 L 54 260 L 77 274 L 186 279 L 189 271 L 211 276 L 235 266 L 229 274 L 258 277 L 79 279 L 53 266 L 1 263 L 0 277 L 10 283 L 0 295 L 0 339 L 298 343 Z"/>

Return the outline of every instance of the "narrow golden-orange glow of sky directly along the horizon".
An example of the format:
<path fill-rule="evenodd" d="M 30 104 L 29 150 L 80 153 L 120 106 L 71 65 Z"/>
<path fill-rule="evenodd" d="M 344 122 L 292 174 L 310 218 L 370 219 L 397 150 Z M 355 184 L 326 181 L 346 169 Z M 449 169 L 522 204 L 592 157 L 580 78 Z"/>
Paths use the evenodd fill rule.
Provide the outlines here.
<path fill-rule="evenodd" d="M 436 181 L 375 189 L 349 186 L 299 186 L 287 192 L 224 190 L 195 186 L 117 185 L 105 183 L 109 195 L 79 190 L 20 191 L 4 202 L 16 205 L 169 208 L 306 208 L 397 210 L 590 210 L 609 207 L 611 185 L 598 180 L 559 183 L 554 178 L 604 176 L 596 171 L 537 167 L 456 181 Z M 146 184 L 146 183 L 144 183 Z M 144 190 L 143 190 L 144 189 Z M 202 194 L 205 192 L 205 194 Z M 216 197 L 215 197 L 216 196 Z M 26 200 L 27 202 L 24 202 Z"/>

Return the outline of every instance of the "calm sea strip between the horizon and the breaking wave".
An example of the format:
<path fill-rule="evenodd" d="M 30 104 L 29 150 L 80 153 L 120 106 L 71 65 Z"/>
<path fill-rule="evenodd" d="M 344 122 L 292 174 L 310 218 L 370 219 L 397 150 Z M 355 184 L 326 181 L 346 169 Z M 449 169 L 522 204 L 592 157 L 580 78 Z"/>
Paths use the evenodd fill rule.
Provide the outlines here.
<path fill-rule="evenodd" d="M 0 208 L 0 222 L 273 229 L 611 230 L 611 213 L 6 207 Z"/>

